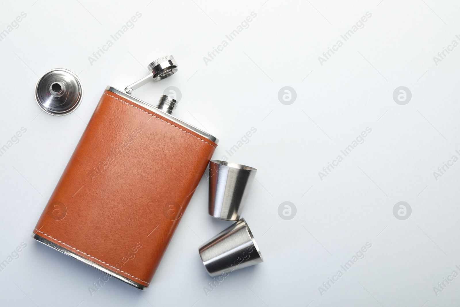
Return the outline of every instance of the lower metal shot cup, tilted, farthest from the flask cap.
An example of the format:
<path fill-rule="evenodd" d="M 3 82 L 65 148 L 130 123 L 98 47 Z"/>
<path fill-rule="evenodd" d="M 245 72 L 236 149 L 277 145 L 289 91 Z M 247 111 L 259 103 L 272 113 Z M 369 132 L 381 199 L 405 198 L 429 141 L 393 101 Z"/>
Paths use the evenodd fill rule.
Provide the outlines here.
<path fill-rule="evenodd" d="M 264 262 L 253 234 L 244 219 L 238 220 L 201 245 L 198 251 L 211 277 Z"/>

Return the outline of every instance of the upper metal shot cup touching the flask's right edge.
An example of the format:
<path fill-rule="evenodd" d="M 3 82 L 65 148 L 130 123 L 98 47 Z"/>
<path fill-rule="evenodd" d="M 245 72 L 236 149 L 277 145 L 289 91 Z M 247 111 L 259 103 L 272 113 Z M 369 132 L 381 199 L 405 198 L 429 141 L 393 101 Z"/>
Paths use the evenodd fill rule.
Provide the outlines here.
<path fill-rule="evenodd" d="M 209 215 L 221 220 L 239 220 L 248 186 L 257 169 L 246 165 L 209 162 Z"/>

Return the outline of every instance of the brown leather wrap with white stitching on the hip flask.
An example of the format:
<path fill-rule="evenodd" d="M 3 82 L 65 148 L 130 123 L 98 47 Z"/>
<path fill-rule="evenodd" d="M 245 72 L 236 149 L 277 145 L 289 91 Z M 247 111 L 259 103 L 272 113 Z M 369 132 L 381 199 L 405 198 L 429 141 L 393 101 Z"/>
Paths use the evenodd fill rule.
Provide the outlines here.
<path fill-rule="evenodd" d="M 33 232 L 149 286 L 216 146 L 106 90 Z"/>

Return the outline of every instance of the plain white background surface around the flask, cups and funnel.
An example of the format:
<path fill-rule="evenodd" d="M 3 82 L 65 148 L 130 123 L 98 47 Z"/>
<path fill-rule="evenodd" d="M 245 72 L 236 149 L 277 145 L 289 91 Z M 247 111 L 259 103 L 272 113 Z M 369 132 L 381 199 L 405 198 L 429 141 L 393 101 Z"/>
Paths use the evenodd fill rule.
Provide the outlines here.
<path fill-rule="evenodd" d="M 460 34 L 456 1 L 2 1 L 0 261 L 21 242 L 20 257 L 0 272 L 2 306 L 456 306 L 460 162 L 460 47 L 433 57 Z M 96 62 L 88 57 L 140 12 Z M 247 29 L 211 62 L 203 57 L 255 12 Z M 339 51 L 318 57 L 370 12 Z M 342 40 L 343 41 L 343 40 Z M 198 247 L 230 225 L 207 215 L 203 177 L 146 291 L 35 242 L 30 235 L 107 85 L 123 89 L 155 58 L 173 54 L 179 70 L 133 94 L 154 103 L 168 86 L 182 92 L 175 116 L 220 139 L 214 158 L 255 127 L 229 157 L 258 168 L 243 217 L 265 262 L 235 271 L 211 293 Z M 34 88 L 53 68 L 79 75 L 81 106 L 63 117 L 40 111 Z M 278 91 L 293 87 L 285 105 Z M 393 91 L 408 87 L 399 105 Z M 327 177 L 328 166 L 366 129 L 372 132 Z M 292 220 L 278 215 L 292 202 Z M 410 204 L 407 220 L 393 215 Z M 372 247 L 326 292 L 318 287 L 367 242 Z M 325 288 L 324 288 L 325 289 Z M 195 304 L 195 305 L 194 305 Z M 310 304 L 310 305 L 309 305 Z M 425 304 L 425 305 L 424 305 Z"/>

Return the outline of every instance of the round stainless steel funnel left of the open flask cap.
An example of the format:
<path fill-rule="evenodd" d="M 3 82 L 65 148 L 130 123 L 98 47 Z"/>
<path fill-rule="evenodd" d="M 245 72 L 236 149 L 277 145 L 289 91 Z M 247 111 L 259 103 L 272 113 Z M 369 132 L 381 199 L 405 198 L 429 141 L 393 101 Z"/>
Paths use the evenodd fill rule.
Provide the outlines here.
<path fill-rule="evenodd" d="M 70 70 L 56 68 L 44 73 L 35 84 L 35 100 L 41 110 L 54 116 L 64 116 L 81 104 L 83 87 Z"/>

